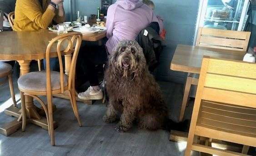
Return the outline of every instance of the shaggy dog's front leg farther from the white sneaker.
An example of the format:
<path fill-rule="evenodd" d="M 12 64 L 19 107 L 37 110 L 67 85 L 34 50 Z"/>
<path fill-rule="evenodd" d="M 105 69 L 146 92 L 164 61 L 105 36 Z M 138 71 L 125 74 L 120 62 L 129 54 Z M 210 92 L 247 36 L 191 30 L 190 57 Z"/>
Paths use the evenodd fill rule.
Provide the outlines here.
<path fill-rule="evenodd" d="M 136 108 L 129 104 L 123 104 L 124 109 L 120 118 L 120 122 L 115 127 L 118 132 L 128 131 L 132 127 L 132 123 L 136 117 Z"/>

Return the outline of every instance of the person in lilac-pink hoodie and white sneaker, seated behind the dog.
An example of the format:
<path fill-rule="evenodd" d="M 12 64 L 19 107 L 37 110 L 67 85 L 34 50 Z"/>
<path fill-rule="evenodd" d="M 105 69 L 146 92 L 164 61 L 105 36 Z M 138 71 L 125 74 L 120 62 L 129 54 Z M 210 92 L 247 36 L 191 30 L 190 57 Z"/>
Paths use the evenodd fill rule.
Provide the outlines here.
<path fill-rule="evenodd" d="M 105 44 L 108 54 L 112 54 L 115 46 L 123 39 L 134 40 L 151 22 L 158 22 L 153 10 L 143 4 L 141 0 L 117 0 L 110 5 L 107 11 L 107 42 Z M 83 93 L 78 94 L 78 98 L 84 100 L 98 100 L 103 98 L 102 90 L 95 70 L 94 59 L 107 60 L 106 52 L 95 54 L 94 56 L 84 57 L 87 63 L 87 71 L 90 87 Z M 105 54 L 104 54 L 105 53 Z"/>

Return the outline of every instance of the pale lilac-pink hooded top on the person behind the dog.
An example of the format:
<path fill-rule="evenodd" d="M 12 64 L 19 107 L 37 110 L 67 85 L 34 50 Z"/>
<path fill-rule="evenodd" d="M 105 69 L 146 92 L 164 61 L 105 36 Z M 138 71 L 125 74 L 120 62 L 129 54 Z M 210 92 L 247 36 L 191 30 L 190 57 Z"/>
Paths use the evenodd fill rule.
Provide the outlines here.
<path fill-rule="evenodd" d="M 158 22 L 153 10 L 140 0 L 117 0 L 107 12 L 106 47 L 111 54 L 120 40 L 134 40 L 151 22 Z"/>

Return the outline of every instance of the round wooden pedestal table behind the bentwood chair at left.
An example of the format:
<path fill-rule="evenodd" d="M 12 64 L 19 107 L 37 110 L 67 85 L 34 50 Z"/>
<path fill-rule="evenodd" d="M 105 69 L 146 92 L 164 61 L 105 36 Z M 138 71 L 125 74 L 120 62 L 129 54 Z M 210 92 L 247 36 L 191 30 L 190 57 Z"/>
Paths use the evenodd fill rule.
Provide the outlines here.
<path fill-rule="evenodd" d="M 20 64 L 21 75 L 30 72 L 30 61 L 45 58 L 46 47 L 51 39 L 57 34 L 49 32 L 47 29 L 39 31 L 24 32 L 1 32 L 0 33 L 0 60 L 16 60 Z M 55 46 L 56 47 L 56 46 Z M 57 57 L 56 49 L 51 49 L 50 57 Z M 65 55 L 65 63 L 71 63 L 71 54 Z M 68 75 L 69 71 L 65 71 Z M 25 97 L 25 106 L 27 110 L 28 121 L 48 129 L 45 117 L 38 114 L 39 108 L 33 103 L 33 98 Z M 20 116 L 20 109 L 17 107 L 9 107 L 5 113 L 14 117 Z M 6 136 L 15 132 L 20 127 L 18 121 L 13 121 L 4 126 L 0 126 L 0 133 Z"/>

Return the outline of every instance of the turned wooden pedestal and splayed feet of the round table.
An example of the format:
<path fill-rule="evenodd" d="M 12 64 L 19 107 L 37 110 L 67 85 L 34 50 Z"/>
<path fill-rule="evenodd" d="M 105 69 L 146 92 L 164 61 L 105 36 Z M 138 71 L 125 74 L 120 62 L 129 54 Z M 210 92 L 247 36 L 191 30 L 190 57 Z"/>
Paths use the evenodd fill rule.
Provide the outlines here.
<path fill-rule="evenodd" d="M 21 75 L 30 72 L 30 60 L 20 60 L 18 62 L 20 64 Z M 40 111 L 41 109 L 34 105 L 32 97 L 25 96 L 25 106 L 26 106 L 26 111 L 27 111 L 26 113 L 28 117 L 27 122 L 34 123 L 35 125 L 38 125 L 45 130 L 48 130 L 47 120 L 45 117 L 41 117 L 39 115 L 38 111 Z M 11 106 L 5 109 L 5 114 L 12 117 L 19 118 L 21 114 L 20 108 Z M 22 125 L 22 122 L 17 121 L 17 119 L 15 119 L 12 122 L 1 125 L 0 133 L 5 136 L 8 136 L 16 132 L 21 127 L 21 125 Z M 57 127 L 56 122 L 54 122 L 54 127 Z"/>

